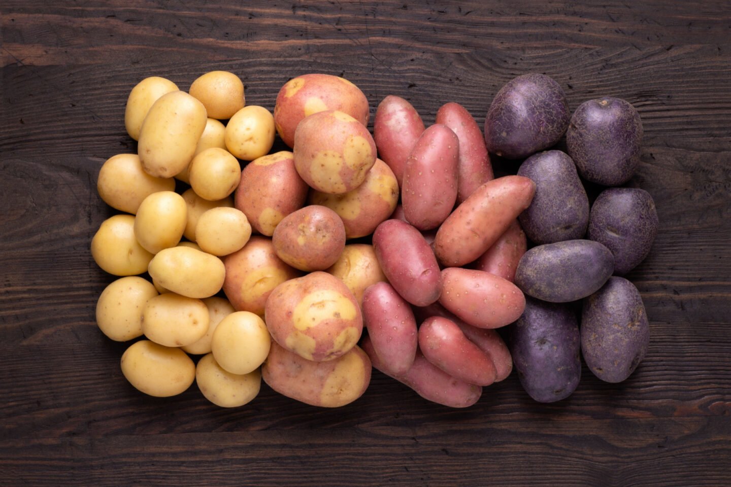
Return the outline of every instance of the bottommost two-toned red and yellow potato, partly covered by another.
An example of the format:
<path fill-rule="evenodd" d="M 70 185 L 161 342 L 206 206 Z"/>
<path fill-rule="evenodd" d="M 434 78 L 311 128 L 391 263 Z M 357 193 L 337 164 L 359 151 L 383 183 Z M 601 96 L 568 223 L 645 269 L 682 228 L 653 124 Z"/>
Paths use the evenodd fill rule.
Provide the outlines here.
<path fill-rule="evenodd" d="M 305 404 L 340 407 L 366 392 L 371 361 L 357 345 L 334 360 L 314 362 L 273 342 L 262 378 L 279 394 Z"/>

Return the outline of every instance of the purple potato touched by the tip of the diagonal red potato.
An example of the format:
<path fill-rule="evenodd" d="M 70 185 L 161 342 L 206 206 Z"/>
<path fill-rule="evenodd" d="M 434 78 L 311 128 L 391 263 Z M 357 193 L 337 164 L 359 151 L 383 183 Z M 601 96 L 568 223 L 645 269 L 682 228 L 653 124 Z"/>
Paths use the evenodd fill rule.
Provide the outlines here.
<path fill-rule="evenodd" d="M 547 244 L 584 237 L 589 199 L 569 156 L 560 150 L 534 154 L 520 165 L 518 176 L 536 183 L 531 206 L 518 216 L 529 239 Z"/>

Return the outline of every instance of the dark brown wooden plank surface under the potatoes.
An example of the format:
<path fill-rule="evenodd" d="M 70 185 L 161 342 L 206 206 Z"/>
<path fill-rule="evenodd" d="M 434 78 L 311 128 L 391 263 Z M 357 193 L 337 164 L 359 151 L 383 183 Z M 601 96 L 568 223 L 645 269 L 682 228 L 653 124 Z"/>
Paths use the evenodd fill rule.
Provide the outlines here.
<path fill-rule="evenodd" d="M 0 486 L 731 485 L 729 1 L 6 0 L 0 12 Z M 427 124 L 447 101 L 482 120 L 526 72 L 558 80 L 572 110 L 630 101 L 645 128 L 632 184 L 660 219 L 629 275 L 651 321 L 643 364 L 618 385 L 585 367 L 555 404 L 512 375 L 466 410 L 377 372 L 338 410 L 267 386 L 232 410 L 195 386 L 135 391 L 125 345 L 94 321 L 113 280 L 89 253 L 113 214 L 96 175 L 136 150 L 135 83 L 187 89 L 212 69 L 270 110 L 289 78 L 338 74 L 371 115 L 393 93 Z"/>

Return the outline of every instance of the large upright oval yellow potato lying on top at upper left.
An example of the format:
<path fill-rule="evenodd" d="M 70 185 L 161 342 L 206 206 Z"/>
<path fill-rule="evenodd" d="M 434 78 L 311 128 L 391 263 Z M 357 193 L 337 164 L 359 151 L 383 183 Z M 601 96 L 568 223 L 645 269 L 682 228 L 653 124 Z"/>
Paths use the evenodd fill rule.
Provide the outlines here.
<path fill-rule="evenodd" d="M 161 96 L 140 129 L 137 153 L 143 169 L 156 177 L 172 177 L 193 158 L 208 116 L 203 104 L 184 91 Z"/>

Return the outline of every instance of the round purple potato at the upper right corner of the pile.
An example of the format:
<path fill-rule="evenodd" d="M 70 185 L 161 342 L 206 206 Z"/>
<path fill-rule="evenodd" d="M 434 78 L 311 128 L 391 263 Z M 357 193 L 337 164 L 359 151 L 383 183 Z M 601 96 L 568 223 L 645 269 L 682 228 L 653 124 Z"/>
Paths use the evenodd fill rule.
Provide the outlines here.
<path fill-rule="evenodd" d="M 569 156 L 579 174 L 592 183 L 626 183 L 640 164 L 642 121 L 635 107 L 618 98 L 584 101 L 566 133 Z"/>

